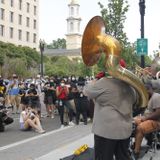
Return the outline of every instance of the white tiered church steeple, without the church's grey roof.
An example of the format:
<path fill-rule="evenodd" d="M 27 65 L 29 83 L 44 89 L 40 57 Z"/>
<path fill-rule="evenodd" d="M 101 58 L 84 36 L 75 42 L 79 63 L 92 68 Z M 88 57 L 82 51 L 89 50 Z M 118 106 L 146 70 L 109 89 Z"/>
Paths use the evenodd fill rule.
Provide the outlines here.
<path fill-rule="evenodd" d="M 69 17 L 67 18 L 67 49 L 78 49 L 81 47 L 82 35 L 80 34 L 79 4 L 77 0 L 70 0 Z"/>

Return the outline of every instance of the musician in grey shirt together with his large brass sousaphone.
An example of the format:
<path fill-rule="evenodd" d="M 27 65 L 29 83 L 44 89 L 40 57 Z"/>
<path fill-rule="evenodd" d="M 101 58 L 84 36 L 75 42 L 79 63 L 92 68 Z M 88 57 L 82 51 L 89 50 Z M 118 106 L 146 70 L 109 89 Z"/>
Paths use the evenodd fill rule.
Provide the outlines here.
<path fill-rule="evenodd" d="M 93 29 L 94 28 L 94 29 Z M 82 57 L 87 66 L 106 54 L 106 70 L 110 78 L 102 77 L 88 83 L 84 94 L 95 102 L 92 132 L 95 160 L 129 160 L 128 146 L 132 133 L 132 107 L 139 94 L 138 105 L 146 107 L 148 95 L 141 81 L 119 65 L 121 46 L 104 33 L 104 22 L 93 17 L 86 26 L 82 39 Z"/>

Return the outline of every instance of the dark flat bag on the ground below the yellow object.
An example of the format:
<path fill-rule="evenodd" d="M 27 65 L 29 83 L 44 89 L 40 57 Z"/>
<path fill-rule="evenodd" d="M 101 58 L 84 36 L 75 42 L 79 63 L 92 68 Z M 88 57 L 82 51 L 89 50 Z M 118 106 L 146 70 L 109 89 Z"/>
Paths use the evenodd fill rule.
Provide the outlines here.
<path fill-rule="evenodd" d="M 95 160 L 94 159 L 94 149 L 88 148 L 85 152 L 81 153 L 80 155 L 70 155 L 60 160 Z"/>

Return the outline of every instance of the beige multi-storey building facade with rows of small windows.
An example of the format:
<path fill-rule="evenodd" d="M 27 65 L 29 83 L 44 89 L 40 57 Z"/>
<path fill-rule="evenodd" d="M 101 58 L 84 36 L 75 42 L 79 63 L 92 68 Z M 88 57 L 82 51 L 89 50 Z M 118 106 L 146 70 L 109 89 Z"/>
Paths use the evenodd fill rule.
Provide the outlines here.
<path fill-rule="evenodd" d="M 39 47 L 39 0 L 0 0 L 0 41 Z"/>

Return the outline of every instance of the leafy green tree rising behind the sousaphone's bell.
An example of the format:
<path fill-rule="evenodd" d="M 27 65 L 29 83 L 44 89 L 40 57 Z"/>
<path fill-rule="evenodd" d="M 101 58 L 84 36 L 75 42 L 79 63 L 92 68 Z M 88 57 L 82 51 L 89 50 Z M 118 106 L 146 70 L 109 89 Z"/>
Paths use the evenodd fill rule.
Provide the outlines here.
<path fill-rule="evenodd" d="M 123 58 L 127 67 L 134 69 L 135 64 L 139 64 L 140 57 L 136 55 L 136 46 L 128 41 L 127 35 L 124 32 L 124 24 L 126 13 L 129 10 L 127 0 L 108 0 L 108 6 L 105 8 L 103 4 L 98 3 L 101 8 L 102 18 L 105 22 L 106 33 L 116 38 L 122 47 L 120 58 Z M 104 70 L 105 56 L 102 56 L 98 66 Z M 102 65 L 103 64 L 103 65 Z"/>

